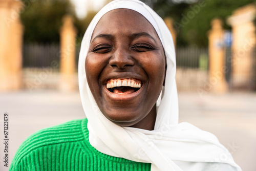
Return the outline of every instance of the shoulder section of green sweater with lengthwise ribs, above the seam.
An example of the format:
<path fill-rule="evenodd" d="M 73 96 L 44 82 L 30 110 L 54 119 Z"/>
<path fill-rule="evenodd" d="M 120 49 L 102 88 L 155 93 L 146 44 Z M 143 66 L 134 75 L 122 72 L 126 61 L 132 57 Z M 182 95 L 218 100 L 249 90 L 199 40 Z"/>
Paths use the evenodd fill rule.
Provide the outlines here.
<path fill-rule="evenodd" d="M 37 131 L 19 146 L 13 162 L 22 160 L 42 147 L 70 145 L 77 141 L 83 141 L 82 125 L 87 124 L 87 121 L 87 119 L 72 120 Z"/>

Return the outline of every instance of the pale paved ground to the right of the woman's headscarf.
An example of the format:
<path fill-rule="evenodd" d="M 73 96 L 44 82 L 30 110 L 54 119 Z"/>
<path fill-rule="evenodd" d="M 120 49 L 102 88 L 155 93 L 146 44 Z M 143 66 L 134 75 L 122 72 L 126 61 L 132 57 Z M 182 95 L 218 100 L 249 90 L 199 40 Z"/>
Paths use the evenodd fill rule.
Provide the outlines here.
<path fill-rule="evenodd" d="M 256 170 L 256 94 L 179 94 L 180 122 L 215 134 L 244 171 Z"/>

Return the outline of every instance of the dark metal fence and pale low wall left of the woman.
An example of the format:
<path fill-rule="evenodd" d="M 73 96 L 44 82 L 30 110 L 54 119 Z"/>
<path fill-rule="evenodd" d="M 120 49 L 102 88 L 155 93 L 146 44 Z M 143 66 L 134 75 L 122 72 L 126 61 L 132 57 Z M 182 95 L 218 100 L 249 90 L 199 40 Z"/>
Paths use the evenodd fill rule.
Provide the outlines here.
<path fill-rule="evenodd" d="M 76 69 L 79 51 L 80 47 L 76 47 Z M 60 54 L 59 44 L 24 45 L 23 87 L 29 90 L 56 89 L 60 80 Z M 54 62 L 54 65 L 52 65 L 52 62 Z"/>

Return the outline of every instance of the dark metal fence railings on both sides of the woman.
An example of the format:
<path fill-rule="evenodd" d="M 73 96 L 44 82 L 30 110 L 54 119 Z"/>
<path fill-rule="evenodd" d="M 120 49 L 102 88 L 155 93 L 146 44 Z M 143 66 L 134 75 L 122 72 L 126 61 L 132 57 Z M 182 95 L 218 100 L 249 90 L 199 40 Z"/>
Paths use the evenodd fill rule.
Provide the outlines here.
<path fill-rule="evenodd" d="M 76 63 L 78 63 L 79 51 L 80 46 L 77 46 Z M 27 44 L 23 47 L 23 68 L 50 67 L 52 61 L 59 62 L 59 57 L 60 48 L 58 44 Z M 178 48 L 176 60 L 178 68 L 207 70 L 208 50 L 207 48 Z"/>

